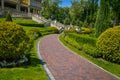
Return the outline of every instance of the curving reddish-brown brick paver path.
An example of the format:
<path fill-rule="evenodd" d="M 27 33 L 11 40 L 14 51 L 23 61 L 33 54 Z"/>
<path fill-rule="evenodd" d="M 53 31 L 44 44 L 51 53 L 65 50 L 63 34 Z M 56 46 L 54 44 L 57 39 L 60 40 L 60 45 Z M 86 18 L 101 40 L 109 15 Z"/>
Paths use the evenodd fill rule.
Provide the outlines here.
<path fill-rule="evenodd" d="M 65 48 L 57 34 L 41 40 L 40 52 L 56 80 L 119 80 Z"/>

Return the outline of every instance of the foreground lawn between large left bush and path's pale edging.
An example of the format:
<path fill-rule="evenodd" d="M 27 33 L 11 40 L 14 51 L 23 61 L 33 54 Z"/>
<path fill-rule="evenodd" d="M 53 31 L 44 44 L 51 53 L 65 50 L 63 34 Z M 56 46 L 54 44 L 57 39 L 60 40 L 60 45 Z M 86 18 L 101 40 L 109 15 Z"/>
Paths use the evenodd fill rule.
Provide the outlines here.
<path fill-rule="evenodd" d="M 39 38 L 40 39 L 40 38 Z M 31 50 L 31 64 L 15 68 L 0 68 L 0 80 L 48 80 L 36 52 L 36 43 Z"/>

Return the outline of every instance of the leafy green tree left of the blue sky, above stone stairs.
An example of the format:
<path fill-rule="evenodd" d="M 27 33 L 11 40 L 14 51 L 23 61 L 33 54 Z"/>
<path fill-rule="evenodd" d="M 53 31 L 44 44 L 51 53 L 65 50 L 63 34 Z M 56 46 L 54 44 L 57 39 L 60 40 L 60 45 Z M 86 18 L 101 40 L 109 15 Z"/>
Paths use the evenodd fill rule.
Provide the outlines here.
<path fill-rule="evenodd" d="M 61 0 L 43 0 L 41 15 L 47 19 L 57 19 Z"/>

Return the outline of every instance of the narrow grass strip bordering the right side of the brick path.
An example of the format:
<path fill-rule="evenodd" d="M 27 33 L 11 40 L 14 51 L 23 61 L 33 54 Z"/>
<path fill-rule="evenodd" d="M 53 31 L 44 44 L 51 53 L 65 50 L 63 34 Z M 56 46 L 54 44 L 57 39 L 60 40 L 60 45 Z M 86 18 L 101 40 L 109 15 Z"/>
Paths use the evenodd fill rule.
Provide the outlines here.
<path fill-rule="evenodd" d="M 93 58 L 93 57 L 87 55 L 85 52 L 80 51 L 80 50 L 76 49 L 75 47 L 71 46 L 70 44 L 66 43 L 63 40 L 62 34 L 59 36 L 59 41 L 61 42 L 61 44 L 65 45 L 66 48 L 73 51 L 73 53 L 83 57 L 84 59 L 87 59 L 92 64 L 100 67 L 101 69 L 105 70 L 106 72 L 108 72 L 108 73 L 114 75 L 115 77 L 117 77 L 118 79 L 120 79 L 120 71 L 119 71 L 120 65 L 110 63 L 110 62 L 104 61 L 104 60 L 99 60 L 99 59 L 96 59 L 96 58 Z"/>

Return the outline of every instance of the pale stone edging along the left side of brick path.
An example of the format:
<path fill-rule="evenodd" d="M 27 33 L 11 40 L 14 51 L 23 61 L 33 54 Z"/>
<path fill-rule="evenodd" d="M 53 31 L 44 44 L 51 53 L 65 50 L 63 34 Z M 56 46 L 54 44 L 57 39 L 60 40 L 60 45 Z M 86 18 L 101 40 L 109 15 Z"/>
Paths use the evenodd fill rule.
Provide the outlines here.
<path fill-rule="evenodd" d="M 38 58 L 43 61 L 42 56 L 41 56 L 41 54 L 40 54 L 40 40 L 39 40 L 39 42 L 37 43 L 37 54 L 38 54 Z M 48 79 L 49 79 L 49 80 L 55 80 L 54 76 L 52 75 L 52 73 L 51 73 L 50 70 L 48 69 L 47 65 L 46 65 L 46 64 L 42 64 L 42 66 L 43 66 L 44 70 L 45 70 L 46 73 L 47 73 Z"/>

